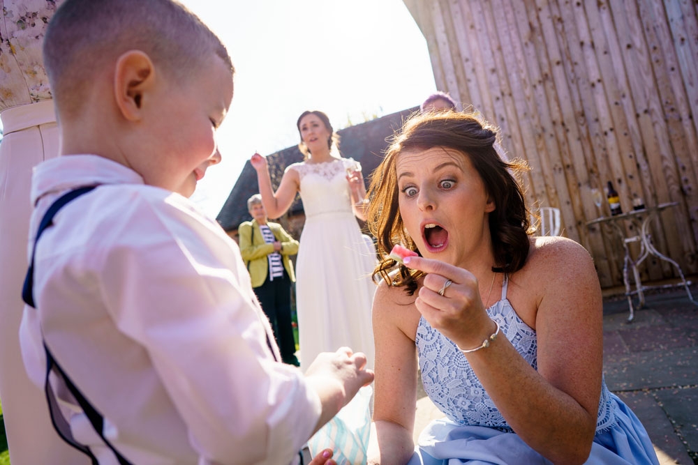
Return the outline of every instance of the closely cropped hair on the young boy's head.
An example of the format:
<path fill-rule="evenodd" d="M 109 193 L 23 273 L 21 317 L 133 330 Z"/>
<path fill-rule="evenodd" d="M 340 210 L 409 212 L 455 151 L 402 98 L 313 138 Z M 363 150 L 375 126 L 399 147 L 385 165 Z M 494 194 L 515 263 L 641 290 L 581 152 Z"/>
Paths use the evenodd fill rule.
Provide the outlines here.
<path fill-rule="evenodd" d="M 140 50 L 177 82 L 217 55 L 234 68 L 221 40 L 172 0 L 66 0 L 52 17 L 43 54 L 59 114 L 77 114 L 90 82 L 124 52 Z"/>

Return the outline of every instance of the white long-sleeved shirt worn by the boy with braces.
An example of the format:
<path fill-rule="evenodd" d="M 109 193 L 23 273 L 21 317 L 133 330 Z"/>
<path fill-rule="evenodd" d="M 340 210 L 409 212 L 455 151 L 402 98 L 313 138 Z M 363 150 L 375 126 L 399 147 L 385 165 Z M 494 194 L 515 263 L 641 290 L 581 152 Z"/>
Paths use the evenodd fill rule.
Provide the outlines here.
<path fill-rule="evenodd" d="M 71 155 L 34 172 L 31 243 L 55 199 L 94 184 L 38 243 L 38 310 L 25 307 L 20 328 L 32 381 L 43 387 L 43 330 L 57 363 L 105 416 L 107 439 L 131 462 L 294 461 L 320 399 L 299 369 L 274 361 L 239 248 L 214 220 L 131 169 Z M 116 463 L 54 381 L 75 439 L 101 464 Z"/>

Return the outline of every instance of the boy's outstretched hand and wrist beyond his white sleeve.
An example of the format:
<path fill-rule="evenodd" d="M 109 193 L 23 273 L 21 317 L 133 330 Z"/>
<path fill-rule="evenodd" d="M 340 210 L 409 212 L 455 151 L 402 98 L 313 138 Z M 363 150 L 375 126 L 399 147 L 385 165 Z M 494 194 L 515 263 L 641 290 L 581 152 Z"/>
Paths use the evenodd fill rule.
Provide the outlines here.
<path fill-rule="evenodd" d="M 366 369 L 364 353 L 341 347 L 336 352 L 320 353 L 306 370 L 306 382 L 322 402 L 317 431 L 354 398 L 359 388 L 373 382 L 373 370 Z"/>

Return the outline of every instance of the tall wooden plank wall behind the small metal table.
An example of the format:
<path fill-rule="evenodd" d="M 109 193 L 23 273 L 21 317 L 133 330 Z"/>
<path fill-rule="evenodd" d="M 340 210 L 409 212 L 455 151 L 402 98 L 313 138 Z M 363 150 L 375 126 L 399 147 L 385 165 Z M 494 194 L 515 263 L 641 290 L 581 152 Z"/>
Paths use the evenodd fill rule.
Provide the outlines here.
<path fill-rule="evenodd" d="M 678 201 L 657 248 L 698 272 L 698 15 L 690 0 L 403 0 L 424 33 L 438 89 L 501 130 L 532 170 L 527 200 L 560 208 L 563 235 L 593 255 L 602 287 L 623 249 L 591 190 L 613 181 L 623 211 Z M 632 231 L 629 231 L 632 232 Z M 676 277 L 646 262 L 646 280 Z"/>

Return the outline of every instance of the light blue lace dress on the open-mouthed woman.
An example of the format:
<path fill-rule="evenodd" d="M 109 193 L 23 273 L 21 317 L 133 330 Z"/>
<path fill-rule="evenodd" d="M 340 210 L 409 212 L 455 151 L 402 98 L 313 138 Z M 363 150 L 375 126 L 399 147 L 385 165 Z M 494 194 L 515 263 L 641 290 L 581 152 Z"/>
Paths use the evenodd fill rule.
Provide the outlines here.
<path fill-rule="evenodd" d="M 500 324 L 500 336 L 505 335 L 537 369 L 535 330 L 514 312 L 507 284 L 505 278 L 502 299 L 487 312 Z M 446 418 L 434 420 L 420 434 L 410 465 L 551 463 L 512 432 L 456 344 L 424 318 L 419 320 L 415 343 L 424 390 Z M 596 436 L 586 463 L 658 464 L 641 422 L 602 383 Z"/>

